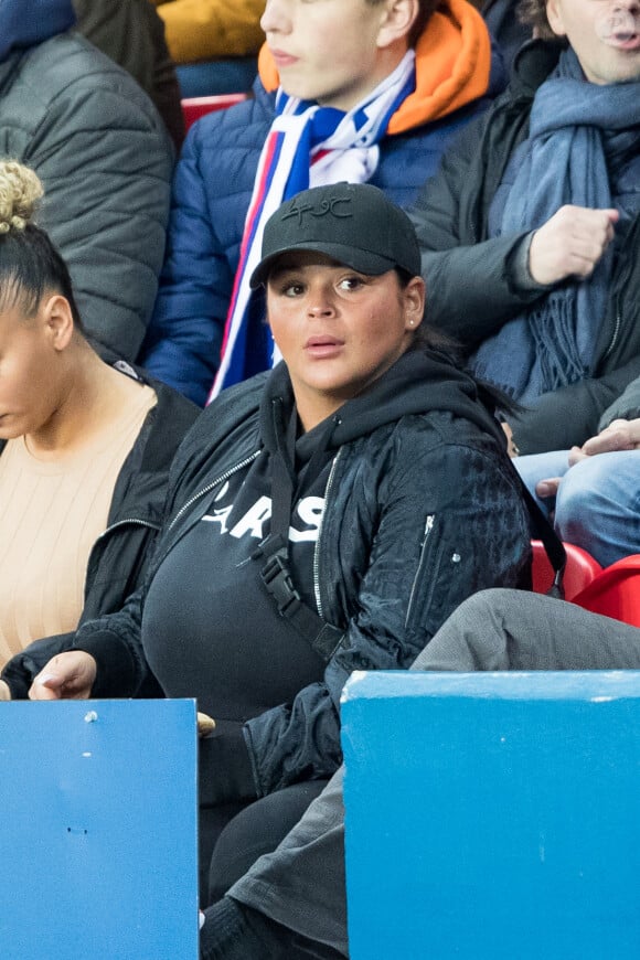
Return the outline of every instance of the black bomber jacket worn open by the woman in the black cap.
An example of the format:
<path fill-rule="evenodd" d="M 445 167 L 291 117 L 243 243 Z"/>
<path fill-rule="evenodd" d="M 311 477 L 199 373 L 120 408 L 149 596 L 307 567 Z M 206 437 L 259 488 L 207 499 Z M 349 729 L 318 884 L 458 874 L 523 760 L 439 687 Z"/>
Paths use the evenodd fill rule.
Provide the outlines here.
<path fill-rule="evenodd" d="M 260 403 L 270 382 L 260 374 L 224 391 L 185 437 L 147 583 L 206 512 L 211 491 L 264 449 Z M 466 374 L 437 356 L 406 354 L 339 410 L 330 442 L 316 604 L 344 637 L 322 682 L 244 725 L 253 796 L 334 771 L 340 694 L 353 670 L 407 668 L 469 594 L 529 585 L 520 482 L 502 430 Z M 75 646 L 98 663 L 95 695 L 135 695 L 147 675 L 145 593 L 77 633 Z"/>

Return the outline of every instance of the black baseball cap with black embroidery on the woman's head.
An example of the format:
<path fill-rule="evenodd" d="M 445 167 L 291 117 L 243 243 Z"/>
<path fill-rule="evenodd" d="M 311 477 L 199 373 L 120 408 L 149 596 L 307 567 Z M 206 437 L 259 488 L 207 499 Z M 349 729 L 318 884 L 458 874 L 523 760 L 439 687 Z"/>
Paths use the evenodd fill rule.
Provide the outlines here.
<path fill-rule="evenodd" d="M 271 214 L 263 235 L 263 258 L 250 286 L 266 282 L 281 254 L 311 250 L 326 254 L 375 277 L 396 267 L 419 276 L 420 250 L 406 213 L 371 183 L 312 186 Z"/>

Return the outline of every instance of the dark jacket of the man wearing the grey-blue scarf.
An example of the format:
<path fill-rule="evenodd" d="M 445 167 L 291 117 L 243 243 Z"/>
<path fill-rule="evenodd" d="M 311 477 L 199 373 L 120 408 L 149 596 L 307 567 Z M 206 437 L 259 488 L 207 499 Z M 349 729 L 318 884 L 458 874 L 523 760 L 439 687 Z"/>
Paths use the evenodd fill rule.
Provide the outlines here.
<path fill-rule="evenodd" d="M 510 257 L 524 234 L 488 238 L 488 214 L 506 163 L 529 135 L 537 87 L 561 47 L 534 41 L 515 58 L 508 90 L 463 131 L 427 181 L 412 218 L 423 249 L 427 319 L 471 352 L 546 291 L 510 282 Z M 640 374 L 640 216 L 616 259 L 594 376 L 543 394 L 510 418 L 522 454 L 567 449 L 597 433 L 609 404 Z"/>

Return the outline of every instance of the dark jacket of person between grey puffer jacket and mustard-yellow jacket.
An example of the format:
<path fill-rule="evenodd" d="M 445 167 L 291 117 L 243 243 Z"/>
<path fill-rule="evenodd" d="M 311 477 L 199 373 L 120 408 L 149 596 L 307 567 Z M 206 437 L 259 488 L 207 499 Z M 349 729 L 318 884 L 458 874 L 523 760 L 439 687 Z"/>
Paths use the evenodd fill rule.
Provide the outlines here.
<path fill-rule="evenodd" d="M 164 25 L 149 0 L 73 0 L 73 6 L 79 32 L 138 81 L 180 150 L 184 139 L 180 87 Z"/>

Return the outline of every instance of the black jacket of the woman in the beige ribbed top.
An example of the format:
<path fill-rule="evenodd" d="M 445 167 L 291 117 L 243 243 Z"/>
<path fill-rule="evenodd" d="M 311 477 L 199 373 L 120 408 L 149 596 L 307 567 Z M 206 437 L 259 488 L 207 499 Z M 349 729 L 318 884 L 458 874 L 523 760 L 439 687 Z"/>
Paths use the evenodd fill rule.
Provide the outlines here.
<path fill-rule="evenodd" d="M 127 370 L 134 373 L 128 366 Z M 142 377 L 139 377 L 142 380 Z M 147 382 L 147 381 L 143 381 Z M 149 410 L 138 439 L 118 474 L 107 529 L 87 563 L 81 623 L 119 610 L 142 580 L 160 530 L 169 468 L 200 408 L 158 381 L 150 382 L 158 403 Z M 4 441 L 0 445 L 0 454 Z M 47 637 L 13 657 L 2 671 L 13 698 L 23 698 L 44 664 L 73 643 L 73 633 Z M 160 694 L 152 679 L 147 691 Z"/>

